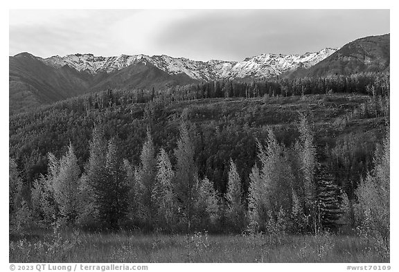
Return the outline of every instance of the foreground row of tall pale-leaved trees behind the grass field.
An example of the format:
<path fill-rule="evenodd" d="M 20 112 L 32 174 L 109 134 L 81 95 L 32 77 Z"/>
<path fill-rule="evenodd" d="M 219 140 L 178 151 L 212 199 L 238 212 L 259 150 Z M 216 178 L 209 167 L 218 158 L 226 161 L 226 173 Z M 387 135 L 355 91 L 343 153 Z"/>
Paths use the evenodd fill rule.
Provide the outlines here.
<path fill-rule="evenodd" d="M 353 199 L 334 182 L 322 158 L 326 154 L 314 144 L 312 126 L 303 115 L 292 145 L 279 142 L 271 127 L 265 140 L 257 140 L 258 159 L 247 190 L 232 158 L 225 192 L 199 176 L 189 127 L 183 114 L 171 156 L 155 148 L 148 127 L 134 165 L 96 124 L 84 169 L 72 144 L 60 158 L 49 153 L 47 174 L 35 179 L 28 194 L 10 159 L 10 229 L 61 224 L 172 233 L 319 233 L 350 226 L 378 235 L 389 246 L 389 127 Z"/>

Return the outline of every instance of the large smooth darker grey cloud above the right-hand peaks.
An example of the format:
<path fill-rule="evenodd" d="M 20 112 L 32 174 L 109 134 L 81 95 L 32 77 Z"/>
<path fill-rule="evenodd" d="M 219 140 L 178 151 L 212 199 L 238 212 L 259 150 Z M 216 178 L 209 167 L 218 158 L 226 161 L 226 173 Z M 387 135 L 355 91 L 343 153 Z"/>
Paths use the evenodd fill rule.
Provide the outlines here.
<path fill-rule="evenodd" d="M 172 54 L 242 60 L 305 53 L 389 31 L 387 10 L 218 10 L 175 22 L 157 37 Z"/>

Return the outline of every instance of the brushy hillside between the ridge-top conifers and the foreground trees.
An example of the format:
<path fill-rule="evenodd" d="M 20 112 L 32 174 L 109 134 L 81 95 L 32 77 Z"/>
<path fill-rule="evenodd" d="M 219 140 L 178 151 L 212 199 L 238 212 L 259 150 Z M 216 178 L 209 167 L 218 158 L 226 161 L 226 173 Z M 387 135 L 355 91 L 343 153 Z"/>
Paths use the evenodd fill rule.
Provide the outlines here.
<path fill-rule="evenodd" d="M 150 127 L 157 149 L 166 149 L 174 163 L 173 150 L 184 116 L 190 123 L 199 175 L 207 176 L 218 192 L 224 192 L 232 158 L 247 190 L 249 172 L 257 161 L 256 139 L 264 142 L 270 126 L 281 143 L 293 145 L 299 136 L 297 124 L 301 112 L 313 124 L 321 161 L 330 165 L 335 181 L 348 186 L 348 195 L 352 196 L 356 186 L 352 180 L 359 180 L 372 165 L 376 143 L 383 138 L 384 116 L 389 107 L 386 98 L 348 94 L 211 98 L 166 105 L 161 100 L 123 104 L 115 99 L 109 101 L 105 103 L 107 107 L 87 110 L 87 96 L 71 98 L 30 114 L 12 116 L 10 156 L 16 158 L 24 180 L 30 184 L 45 173 L 46 154 L 64 154 L 69 142 L 76 147 L 83 168 L 95 123 L 105 129 L 107 138 L 116 138 L 120 156 L 134 165 L 139 163 L 146 130 Z"/>

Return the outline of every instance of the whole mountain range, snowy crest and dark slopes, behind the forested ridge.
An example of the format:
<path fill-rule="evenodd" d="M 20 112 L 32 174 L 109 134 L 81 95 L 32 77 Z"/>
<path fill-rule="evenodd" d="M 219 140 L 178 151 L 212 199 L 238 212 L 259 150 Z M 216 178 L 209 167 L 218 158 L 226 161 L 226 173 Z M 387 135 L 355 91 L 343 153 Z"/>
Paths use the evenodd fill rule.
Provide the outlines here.
<path fill-rule="evenodd" d="M 167 55 L 101 57 L 74 54 L 9 57 L 10 115 L 105 89 L 155 88 L 211 80 L 323 77 L 389 71 L 389 34 L 364 37 L 342 48 L 303 55 L 261 54 L 241 62 L 189 60 Z"/>

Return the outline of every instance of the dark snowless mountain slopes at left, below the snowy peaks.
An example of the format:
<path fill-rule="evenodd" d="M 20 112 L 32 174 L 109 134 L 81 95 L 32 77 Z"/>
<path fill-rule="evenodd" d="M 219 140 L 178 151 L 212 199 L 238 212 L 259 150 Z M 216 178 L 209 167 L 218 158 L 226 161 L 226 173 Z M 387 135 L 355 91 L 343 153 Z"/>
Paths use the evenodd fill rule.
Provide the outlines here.
<path fill-rule="evenodd" d="M 87 69 L 78 71 L 69 65 L 47 65 L 29 53 L 10 57 L 9 62 L 10 115 L 95 91 L 160 89 L 195 82 L 186 74 L 170 75 L 145 61 L 96 74 Z"/>

